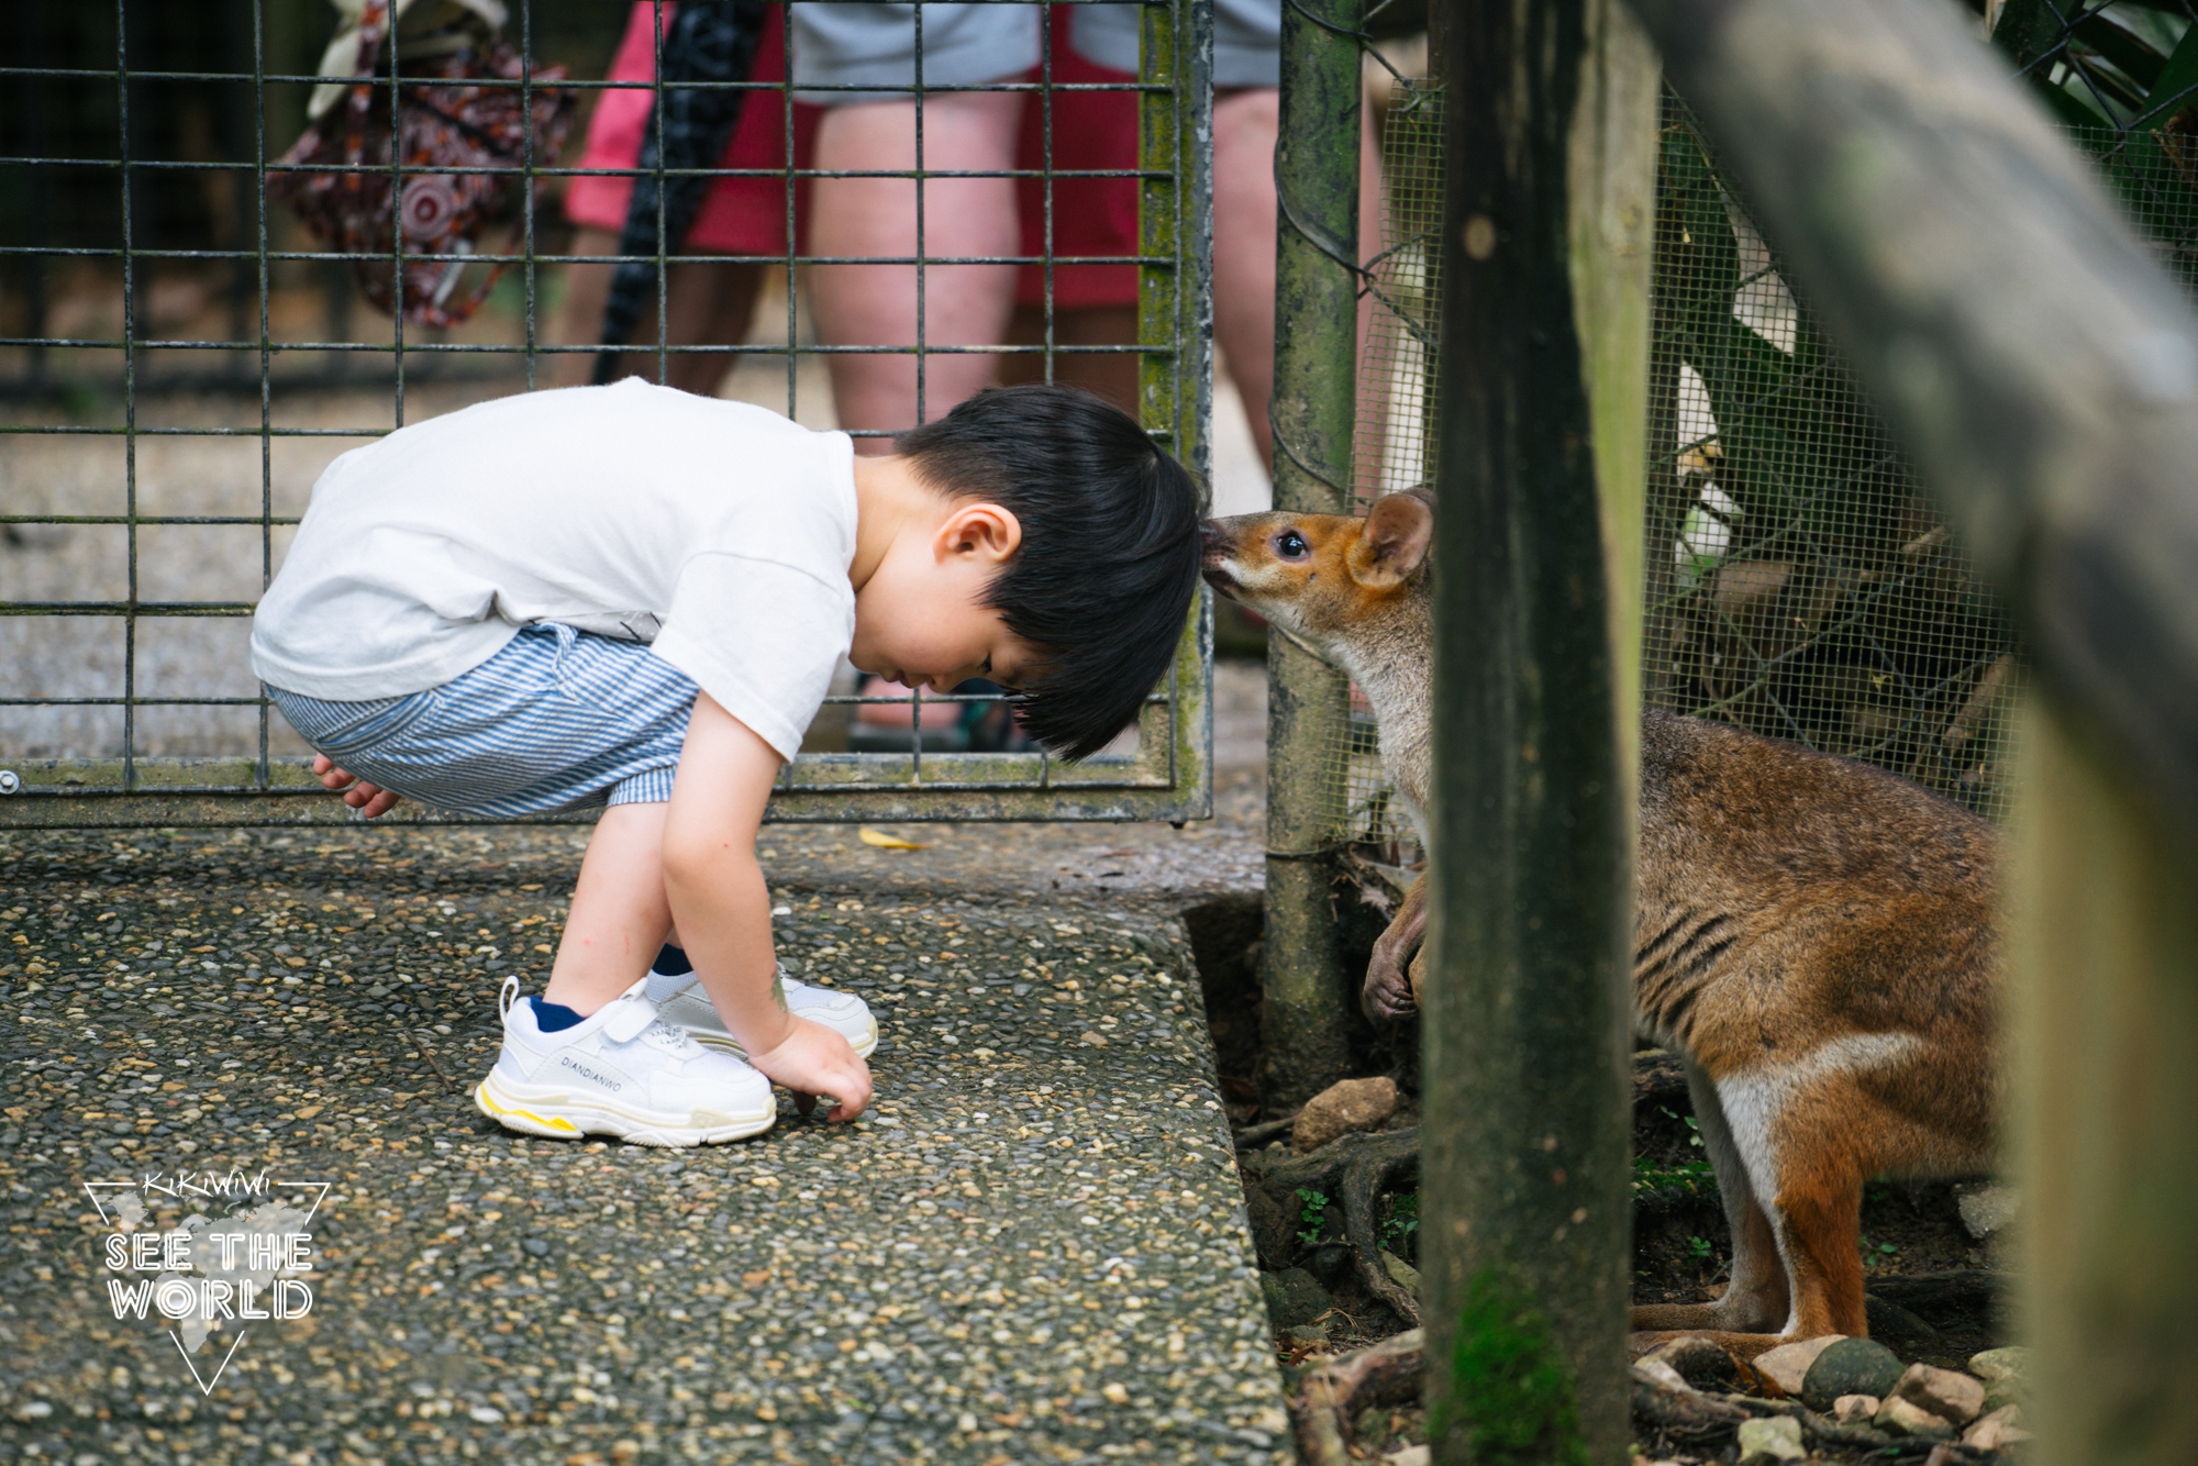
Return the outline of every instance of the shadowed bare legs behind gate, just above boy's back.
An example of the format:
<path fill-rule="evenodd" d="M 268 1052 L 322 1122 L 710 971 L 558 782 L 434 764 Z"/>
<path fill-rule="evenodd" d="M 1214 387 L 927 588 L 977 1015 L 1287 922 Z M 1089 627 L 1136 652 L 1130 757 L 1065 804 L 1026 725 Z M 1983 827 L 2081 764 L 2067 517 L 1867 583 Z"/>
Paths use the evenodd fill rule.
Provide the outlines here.
<path fill-rule="evenodd" d="M 574 255 L 615 255 L 618 235 L 609 229 L 582 229 L 571 240 Z M 684 248 L 695 255 L 706 251 Z M 596 345 L 602 341 L 602 306 L 611 295 L 615 264 L 565 266 L 565 303 L 558 308 L 552 341 L 558 345 Z M 668 345 L 741 345 L 756 314 L 756 290 L 763 286 L 758 264 L 675 264 L 664 270 L 670 288 L 670 312 L 664 323 Z M 633 325 L 635 349 L 620 354 L 618 376 L 657 378 L 657 358 L 648 347 L 657 338 L 655 297 Z M 558 352 L 545 380 L 552 387 L 587 387 L 596 380 L 593 352 Z M 666 385 L 697 396 L 712 396 L 732 369 L 732 356 L 714 352 L 675 352 L 668 356 Z"/>

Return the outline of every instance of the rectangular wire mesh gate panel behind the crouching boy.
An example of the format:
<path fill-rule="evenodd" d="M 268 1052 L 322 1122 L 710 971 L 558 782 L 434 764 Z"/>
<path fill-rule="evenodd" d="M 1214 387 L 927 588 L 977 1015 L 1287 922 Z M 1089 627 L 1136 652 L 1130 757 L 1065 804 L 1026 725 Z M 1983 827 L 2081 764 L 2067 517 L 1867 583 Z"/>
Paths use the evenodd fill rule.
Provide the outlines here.
<path fill-rule="evenodd" d="M 488 396 L 640 374 L 879 440 L 1073 380 L 1202 475 L 1211 4 L 987 9 L 1029 18 L 1029 70 L 925 79 L 912 7 L 912 77 L 879 84 L 796 79 L 758 0 L 367 0 L 332 46 L 310 0 L 29 4 L 0 66 L 0 824 L 347 818 L 248 618 L 328 462 Z M 1066 44 L 1095 9 L 1134 13 L 1139 73 Z M 892 147 L 831 152 L 846 95 L 906 112 Z M 906 242 L 848 229 L 864 187 L 901 189 Z M 969 246 L 983 189 L 1007 235 Z M 1013 286 L 1004 323 L 956 314 L 972 281 Z M 1084 765 L 1015 747 L 998 688 L 848 675 L 771 818 L 1200 813 L 1207 640 L 1194 613 Z"/>

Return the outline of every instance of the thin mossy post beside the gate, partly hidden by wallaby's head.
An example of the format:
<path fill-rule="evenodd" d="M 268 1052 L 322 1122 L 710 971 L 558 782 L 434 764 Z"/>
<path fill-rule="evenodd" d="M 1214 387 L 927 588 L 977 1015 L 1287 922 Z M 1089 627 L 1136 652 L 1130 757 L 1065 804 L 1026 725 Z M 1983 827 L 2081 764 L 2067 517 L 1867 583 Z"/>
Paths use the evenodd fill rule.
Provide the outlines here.
<path fill-rule="evenodd" d="M 1358 382 L 1361 0 L 1281 7 L 1275 143 L 1275 508 L 1352 510 Z M 1343 1077 L 1350 1007 L 1328 859 L 1347 684 L 1286 637 L 1266 653 L 1266 945 L 1259 1097 L 1284 1112 Z"/>

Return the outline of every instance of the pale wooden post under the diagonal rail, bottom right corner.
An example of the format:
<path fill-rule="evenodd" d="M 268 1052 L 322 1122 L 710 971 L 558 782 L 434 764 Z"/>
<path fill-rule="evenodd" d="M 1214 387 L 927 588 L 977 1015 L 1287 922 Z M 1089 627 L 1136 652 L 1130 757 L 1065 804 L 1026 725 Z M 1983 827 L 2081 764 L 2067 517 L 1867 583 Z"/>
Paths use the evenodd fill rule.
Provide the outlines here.
<path fill-rule="evenodd" d="M 2198 1440 L 2198 862 L 2125 760 L 2029 712 L 2009 945 L 2035 1459 L 2169 1466 Z"/>

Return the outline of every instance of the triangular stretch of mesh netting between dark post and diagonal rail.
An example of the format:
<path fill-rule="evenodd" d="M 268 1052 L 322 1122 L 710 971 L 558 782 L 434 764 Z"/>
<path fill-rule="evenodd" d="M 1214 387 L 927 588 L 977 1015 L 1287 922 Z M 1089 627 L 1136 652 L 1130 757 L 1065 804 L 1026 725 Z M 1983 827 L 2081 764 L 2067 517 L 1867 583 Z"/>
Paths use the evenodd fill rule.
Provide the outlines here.
<path fill-rule="evenodd" d="M 1666 97 L 1644 695 L 2005 800 L 2000 607 Z"/>

